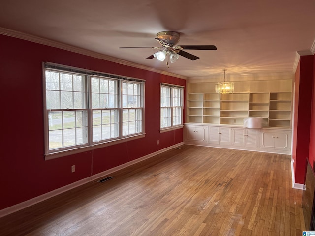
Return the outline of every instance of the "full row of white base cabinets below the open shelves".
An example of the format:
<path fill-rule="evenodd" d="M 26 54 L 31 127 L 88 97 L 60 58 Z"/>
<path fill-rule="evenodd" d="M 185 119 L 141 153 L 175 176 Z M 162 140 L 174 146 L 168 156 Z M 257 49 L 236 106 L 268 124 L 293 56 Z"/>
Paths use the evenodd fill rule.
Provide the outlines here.
<path fill-rule="evenodd" d="M 184 144 L 291 154 L 289 129 L 248 129 L 237 126 L 185 124 Z"/>

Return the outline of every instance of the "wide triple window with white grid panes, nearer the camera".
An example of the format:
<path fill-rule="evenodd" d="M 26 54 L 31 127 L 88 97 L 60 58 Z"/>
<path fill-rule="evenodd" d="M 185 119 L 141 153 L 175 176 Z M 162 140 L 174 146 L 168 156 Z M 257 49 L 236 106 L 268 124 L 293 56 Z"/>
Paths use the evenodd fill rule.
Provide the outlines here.
<path fill-rule="evenodd" d="M 46 63 L 45 154 L 144 134 L 143 94 L 140 80 Z"/>

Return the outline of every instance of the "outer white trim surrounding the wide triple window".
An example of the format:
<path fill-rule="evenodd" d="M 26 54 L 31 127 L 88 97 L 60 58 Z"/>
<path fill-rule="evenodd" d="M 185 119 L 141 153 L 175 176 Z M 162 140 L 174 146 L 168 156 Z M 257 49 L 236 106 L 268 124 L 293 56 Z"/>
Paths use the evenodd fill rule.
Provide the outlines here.
<path fill-rule="evenodd" d="M 55 158 L 59 158 L 59 157 L 63 157 L 63 156 L 68 156 L 68 155 L 72 155 L 72 154 L 76 154 L 76 153 L 81 153 L 81 152 L 85 152 L 85 151 L 89 151 L 89 150 L 93 150 L 93 149 L 97 149 L 97 148 L 104 148 L 104 147 L 108 147 L 111 145 L 115 145 L 115 144 L 120 144 L 120 143 L 124 143 L 130 140 L 135 140 L 135 139 L 140 139 L 140 138 L 144 138 L 146 133 L 145 133 L 145 102 L 144 102 L 144 98 L 145 98 L 145 80 L 142 79 L 137 79 L 137 78 L 132 78 L 132 77 L 123 77 L 123 76 L 119 76 L 119 75 L 113 75 L 113 74 L 108 74 L 108 73 L 103 73 L 103 72 L 98 72 L 98 71 L 92 71 L 92 70 L 86 70 L 86 69 L 81 69 L 81 68 L 77 68 L 77 67 L 71 67 L 71 66 L 65 66 L 65 65 L 61 65 L 61 64 L 56 64 L 56 63 L 51 63 L 51 62 L 42 62 L 43 66 L 42 66 L 42 70 L 43 70 L 43 105 L 44 105 L 44 109 L 43 109 L 43 114 L 44 114 L 44 145 L 45 145 L 45 153 L 44 153 L 44 157 L 45 160 L 51 160 L 51 159 L 55 159 Z M 111 78 L 110 76 L 113 76 L 113 78 L 115 79 L 120 79 L 120 80 L 125 80 L 125 81 L 137 81 L 137 82 L 141 82 L 142 84 L 142 132 L 141 133 L 137 133 L 137 134 L 131 134 L 131 135 L 127 135 L 127 136 L 120 136 L 119 138 L 116 139 L 111 139 L 108 141 L 99 141 L 99 142 L 93 142 L 92 141 L 92 137 L 91 137 L 91 132 L 89 134 L 89 138 L 88 138 L 88 143 L 83 144 L 81 147 L 76 146 L 75 148 L 70 148 L 70 149 L 66 149 L 66 150 L 61 150 L 61 151 L 54 151 L 54 152 L 50 152 L 49 151 L 49 147 L 48 147 L 48 116 L 47 116 L 47 108 L 46 108 L 46 81 L 45 81 L 45 71 L 46 71 L 46 65 L 48 66 L 55 66 L 55 67 L 60 67 L 62 71 L 68 71 L 71 72 L 71 69 L 75 70 L 75 71 L 79 71 L 82 74 L 86 73 L 87 75 L 101 75 L 101 76 L 109 76 L 109 78 Z M 87 91 L 87 93 L 89 93 L 87 96 L 90 96 L 90 92 Z M 120 97 L 122 96 L 122 93 L 120 91 Z M 121 100 L 122 101 L 122 100 Z M 119 108 L 121 111 L 123 110 L 122 108 Z M 88 108 L 88 116 L 92 116 L 91 114 L 92 108 Z M 120 115 L 121 116 L 121 115 Z M 89 118 L 88 119 L 89 124 L 88 127 L 89 129 L 92 129 L 92 119 Z M 121 133 L 121 131 L 120 131 Z M 89 143 L 90 142 L 90 143 Z"/>

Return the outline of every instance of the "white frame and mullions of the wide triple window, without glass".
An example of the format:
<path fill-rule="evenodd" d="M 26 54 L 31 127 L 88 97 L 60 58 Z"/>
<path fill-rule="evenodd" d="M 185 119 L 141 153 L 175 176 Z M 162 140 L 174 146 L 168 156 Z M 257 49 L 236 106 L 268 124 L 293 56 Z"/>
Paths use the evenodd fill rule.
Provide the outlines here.
<path fill-rule="evenodd" d="M 58 71 L 59 73 L 69 73 L 69 74 L 76 74 L 76 75 L 83 75 L 83 80 L 85 83 L 85 108 L 79 109 L 86 111 L 86 120 L 87 123 L 87 137 L 86 141 L 83 144 L 75 145 L 75 146 L 68 146 L 63 148 L 56 148 L 56 149 L 49 149 L 49 117 L 48 114 L 50 111 L 72 111 L 77 109 L 47 109 L 47 94 L 46 90 L 46 70 L 51 69 L 52 71 Z M 45 160 L 54 159 L 66 155 L 76 154 L 87 150 L 93 150 L 96 148 L 102 148 L 107 147 L 114 144 L 119 144 L 126 142 L 128 140 L 134 140 L 138 138 L 145 137 L 145 124 L 144 124 L 144 98 L 145 98 L 145 80 L 137 79 L 137 78 L 131 78 L 131 77 L 123 77 L 119 75 L 113 75 L 113 74 L 107 74 L 97 71 L 91 71 L 71 66 L 65 66 L 60 65 L 56 63 L 51 62 L 43 62 L 42 63 L 42 71 L 43 71 L 43 115 L 44 115 L 44 157 Z M 117 106 L 118 108 L 93 108 L 92 107 L 92 78 L 101 78 L 101 79 L 108 79 L 108 80 L 115 80 L 117 84 Z M 73 80 L 72 80 L 73 81 Z M 122 101 L 122 84 L 124 82 L 132 82 L 134 84 L 137 84 L 140 88 L 140 107 L 141 109 L 141 118 L 140 118 L 140 125 L 141 125 L 141 132 L 132 133 L 128 135 L 122 134 L 122 115 L 123 115 L 123 101 Z M 59 86 L 60 88 L 60 86 Z M 105 111 L 105 110 L 117 110 L 118 111 L 118 137 L 109 138 L 109 139 L 103 139 L 103 140 L 93 140 L 93 111 Z M 64 130 L 64 127 L 61 128 Z M 63 132 L 63 131 L 62 131 Z M 111 136 L 111 135 L 110 135 Z M 83 138 L 84 140 L 84 138 Z"/>

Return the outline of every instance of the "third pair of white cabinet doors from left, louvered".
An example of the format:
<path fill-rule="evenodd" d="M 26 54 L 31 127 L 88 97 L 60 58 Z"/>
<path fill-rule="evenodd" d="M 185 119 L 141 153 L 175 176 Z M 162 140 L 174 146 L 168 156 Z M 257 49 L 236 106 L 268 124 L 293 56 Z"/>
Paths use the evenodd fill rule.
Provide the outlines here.
<path fill-rule="evenodd" d="M 238 147 L 258 147 L 259 130 L 234 128 L 232 129 L 232 145 Z"/>

